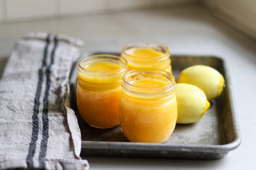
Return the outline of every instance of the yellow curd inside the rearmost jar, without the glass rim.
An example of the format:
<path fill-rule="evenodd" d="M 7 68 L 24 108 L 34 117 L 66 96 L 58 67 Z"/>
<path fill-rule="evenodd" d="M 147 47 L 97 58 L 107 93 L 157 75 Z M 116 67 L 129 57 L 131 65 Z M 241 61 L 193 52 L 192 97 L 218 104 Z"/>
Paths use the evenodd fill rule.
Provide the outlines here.
<path fill-rule="evenodd" d="M 170 65 L 171 61 L 169 57 L 164 60 L 162 60 L 161 58 L 159 60 L 154 59 L 156 57 L 164 55 L 164 53 L 162 53 L 161 51 L 157 51 L 155 49 L 147 47 L 140 47 L 127 51 L 127 54 L 132 57 L 137 57 L 134 62 L 129 62 L 129 59 L 127 60 L 129 70 L 150 68 L 164 70 L 172 73 L 172 68 Z"/>

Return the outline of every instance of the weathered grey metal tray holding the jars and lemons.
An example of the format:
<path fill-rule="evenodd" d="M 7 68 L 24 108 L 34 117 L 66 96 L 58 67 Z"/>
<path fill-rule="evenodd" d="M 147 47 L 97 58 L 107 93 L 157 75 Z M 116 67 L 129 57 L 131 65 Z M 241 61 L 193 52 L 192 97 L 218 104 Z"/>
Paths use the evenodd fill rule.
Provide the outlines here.
<path fill-rule="evenodd" d="M 94 54 L 103 53 L 85 53 L 81 58 Z M 173 134 L 165 143 L 129 142 L 120 126 L 111 129 L 97 129 L 89 126 L 77 110 L 77 63 L 73 65 L 70 75 L 70 103 L 81 129 L 81 155 L 217 159 L 240 145 L 241 135 L 236 107 L 224 61 L 212 56 L 184 55 L 172 55 L 171 60 L 175 79 L 186 67 L 204 64 L 217 69 L 224 76 L 226 87 L 217 99 L 211 101 L 211 107 L 199 121 L 185 125 L 177 124 Z"/>

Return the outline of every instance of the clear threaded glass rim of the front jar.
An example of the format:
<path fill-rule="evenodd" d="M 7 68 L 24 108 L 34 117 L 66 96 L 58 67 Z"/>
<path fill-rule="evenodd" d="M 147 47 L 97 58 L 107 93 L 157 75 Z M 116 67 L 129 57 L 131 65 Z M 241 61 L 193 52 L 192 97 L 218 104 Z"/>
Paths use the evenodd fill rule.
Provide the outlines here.
<path fill-rule="evenodd" d="M 159 74 L 159 75 L 162 75 L 164 77 L 166 77 L 167 79 L 170 80 L 170 82 L 166 85 L 163 85 L 163 86 L 158 86 L 158 87 L 141 87 L 141 86 L 135 86 L 135 85 L 132 85 L 130 83 L 128 83 L 125 79 L 131 75 L 134 75 L 134 74 L 140 74 L 140 73 L 152 73 L 152 74 Z M 157 92 L 156 93 L 141 93 L 141 92 L 135 92 L 135 91 L 132 91 L 128 88 L 125 88 L 125 90 L 128 90 L 132 93 L 136 93 L 136 94 L 143 94 L 143 95 L 152 95 L 152 94 L 159 94 L 159 93 L 163 93 L 165 91 L 170 91 L 172 90 L 174 87 L 175 87 L 175 77 L 167 72 L 167 71 L 163 71 L 163 70 L 158 70 L 158 69 L 137 69 L 137 70 L 132 70 L 132 71 L 129 71 L 127 73 L 125 73 L 122 77 L 122 87 L 124 87 L 126 84 L 127 86 L 129 87 L 134 87 L 134 88 L 141 88 L 141 89 L 152 89 L 152 91 L 155 91 L 156 89 L 159 89 L 159 90 L 156 90 Z M 163 91 L 161 91 L 161 89 L 165 89 Z"/>

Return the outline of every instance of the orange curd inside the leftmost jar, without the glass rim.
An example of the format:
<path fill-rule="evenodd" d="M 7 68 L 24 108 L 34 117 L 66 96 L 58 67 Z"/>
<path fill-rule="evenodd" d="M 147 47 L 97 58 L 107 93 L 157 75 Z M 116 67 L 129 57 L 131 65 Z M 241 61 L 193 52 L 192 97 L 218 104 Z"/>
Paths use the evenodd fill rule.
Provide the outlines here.
<path fill-rule="evenodd" d="M 78 74 L 77 105 L 82 118 L 91 126 L 110 128 L 119 125 L 118 106 L 122 75 L 107 76 L 100 72 L 114 71 L 121 66 L 97 61 L 86 66 L 99 74 Z"/>

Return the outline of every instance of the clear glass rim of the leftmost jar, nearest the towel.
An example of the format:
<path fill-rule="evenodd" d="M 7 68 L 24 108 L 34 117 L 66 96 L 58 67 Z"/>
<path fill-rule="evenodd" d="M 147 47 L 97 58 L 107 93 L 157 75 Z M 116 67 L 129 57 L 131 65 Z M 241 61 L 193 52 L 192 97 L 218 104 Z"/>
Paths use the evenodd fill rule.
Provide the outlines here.
<path fill-rule="evenodd" d="M 116 69 L 116 70 L 112 70 L 112 71 L 90 71 L 90 70 L 86 70 L 85 68 L 83 68 L 81 66 L 82 63 L 84 63 L 86 61 L 91 61 L 94 59 L 120 60 L 121 62 L 124 63 L 124 66 L 121 67 L 120 69 Z M 109 61 L 111 61 L 111 60 L 109 60 Z M 84 57 L 82 60 L 79 61 L 77 69 L 79 72 L 82 72 L 82 73 L 109 75 L 109 74 L 113 74 L 113 73 L 115 73 L 115 74 L 121 73 L 121 72 L 125 71 L 127 68 L 128 68 L 128 62 L 124 58 L 121 58 L 120 56 L 112 55 L 112 54 L 98 54 L 98 55 Z"/>

